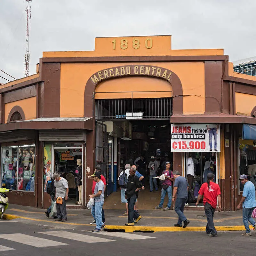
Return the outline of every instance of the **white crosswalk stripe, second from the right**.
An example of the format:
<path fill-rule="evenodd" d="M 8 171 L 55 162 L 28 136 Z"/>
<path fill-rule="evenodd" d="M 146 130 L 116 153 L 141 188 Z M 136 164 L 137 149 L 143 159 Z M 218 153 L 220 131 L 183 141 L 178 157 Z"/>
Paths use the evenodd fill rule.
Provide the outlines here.
<path fill-rule="evenodd" d="M 81 234 L 68 232 L 68 231 L 46 231 L 46 232 L 38 232 L 38 233 L 46 234 L 50 236 L 58 236 L 61 238 L 67 238 L 67 239 L 76 240 L 84 243 L 115 242 L 115 240 L 99 238 L 95 236 L 81 235 Z"/>

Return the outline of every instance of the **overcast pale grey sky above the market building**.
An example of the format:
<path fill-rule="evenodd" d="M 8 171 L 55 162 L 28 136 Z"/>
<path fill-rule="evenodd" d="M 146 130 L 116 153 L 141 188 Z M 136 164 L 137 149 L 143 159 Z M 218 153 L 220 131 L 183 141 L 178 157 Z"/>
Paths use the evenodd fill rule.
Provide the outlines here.
<path fill-rule="evenodd" d="M 0 69 L 15 78 L 24 76 L 26 5 L 0 0 Z M 253 57 L 255 11 L 255 0 L 32 0 L 30 75 L 43 51 L 93 50 L 94 37 L 172 35 L 172 49 L 224 48 L 230 61 Z"/>

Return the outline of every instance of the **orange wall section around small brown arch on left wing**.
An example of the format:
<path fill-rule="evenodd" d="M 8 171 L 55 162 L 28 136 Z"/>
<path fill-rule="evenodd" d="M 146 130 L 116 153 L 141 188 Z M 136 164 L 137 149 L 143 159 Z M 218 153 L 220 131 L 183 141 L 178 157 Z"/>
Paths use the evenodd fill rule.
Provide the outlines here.
<path fill-rule="evenodd" d="M 10 111 L 14 106 L 20 106 L 25 114 L 26 120 L 36 118 L 36 97 L 31 97 L 24 100 L 17 100 L 4 104 L 4 122 L 7 123 L 7 119 Z"/>

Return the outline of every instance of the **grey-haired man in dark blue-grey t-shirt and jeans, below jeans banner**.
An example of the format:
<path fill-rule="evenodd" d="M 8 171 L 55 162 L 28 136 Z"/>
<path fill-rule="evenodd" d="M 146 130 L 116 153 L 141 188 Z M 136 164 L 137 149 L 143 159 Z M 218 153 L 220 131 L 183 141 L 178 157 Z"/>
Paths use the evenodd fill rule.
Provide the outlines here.
<path fill-rule="evenodd" d="M 185 177 L 180 176 L 179 171 L 174 171 L 173 177 L 175 179 L 173 185 L 173 196 L 172 202 L 175 202 L 175 212 L 178 214 L 179 219 L 177 224 L 174 224 L 175 227 L 180 227 L 182 221 L 184 222 L 183 228 L 186 228 L 189 224 L 189 220 L 187 220 L 186 216 L 184 215 L 184 206 L 188 200 L 188 182 Z"/>

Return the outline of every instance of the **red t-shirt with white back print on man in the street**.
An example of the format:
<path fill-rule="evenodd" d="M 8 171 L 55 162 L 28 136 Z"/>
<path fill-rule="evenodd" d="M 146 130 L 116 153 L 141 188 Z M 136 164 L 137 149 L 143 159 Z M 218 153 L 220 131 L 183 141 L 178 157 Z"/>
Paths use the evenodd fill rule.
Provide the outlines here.
<path fill-rule="evenodd" d="M 205 182 L 201 186 L 198 194 L 204 196 L 204 204 L 207 202 L 215 209 L 217 207 L 217 196 L 221 195 L 220 186 L 210 181 L 210 188 L 208 188 L 208 184 Z"/>

